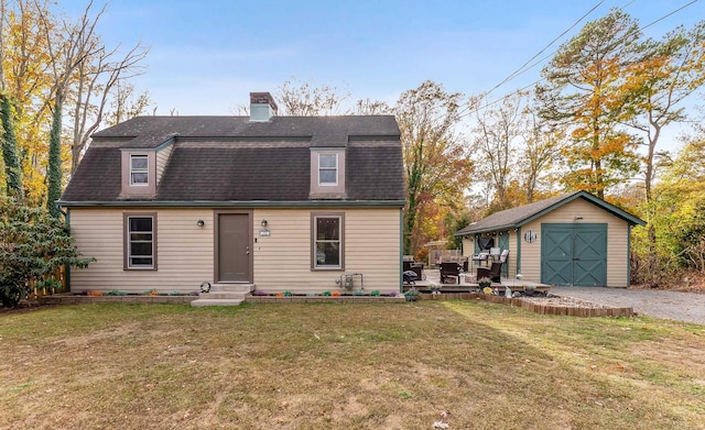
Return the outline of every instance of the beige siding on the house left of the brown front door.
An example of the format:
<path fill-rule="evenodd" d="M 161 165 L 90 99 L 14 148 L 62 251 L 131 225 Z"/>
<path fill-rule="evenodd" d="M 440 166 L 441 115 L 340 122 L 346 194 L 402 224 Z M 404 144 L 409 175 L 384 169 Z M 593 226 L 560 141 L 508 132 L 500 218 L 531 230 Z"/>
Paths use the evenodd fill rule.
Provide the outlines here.
<path fill-rule="evenodd" d="M 123 213 L 156 212 L 158 271 L 123 269 Z M 206 223 L 197 227 L 202 219 Z M 80 252 L 97 258 L 70 274 L 72 291 L 120 289 L 141 294 L 195 291 L 213 282 L 213 211 L 209 209 L 70 210 L 70 231 Z"/>

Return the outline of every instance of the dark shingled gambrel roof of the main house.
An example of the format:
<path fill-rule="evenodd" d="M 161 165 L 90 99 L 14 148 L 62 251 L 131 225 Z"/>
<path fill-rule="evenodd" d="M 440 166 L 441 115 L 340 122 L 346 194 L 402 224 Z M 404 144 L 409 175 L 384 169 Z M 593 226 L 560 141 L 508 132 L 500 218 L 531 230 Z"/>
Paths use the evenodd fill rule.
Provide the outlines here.
<path fill-rule="evenodd" d="M 405 200 L 397 121 L 380 117 L 138 117 L 94 134 L 64 195 L 66 206 L 128 201 L 121 150 L 172 145 L 150 198 L 130 201 L 310 201 L 311 148 L 347 147 L 346 195 L 336 201 Z"/>

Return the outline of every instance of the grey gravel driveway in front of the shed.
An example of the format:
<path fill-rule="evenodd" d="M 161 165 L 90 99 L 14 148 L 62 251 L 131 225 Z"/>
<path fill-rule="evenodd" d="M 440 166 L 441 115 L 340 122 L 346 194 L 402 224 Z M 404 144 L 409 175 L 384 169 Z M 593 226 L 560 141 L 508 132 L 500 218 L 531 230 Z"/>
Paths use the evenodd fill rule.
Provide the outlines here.
<path fill-rule="evenodd" d="M 705 324 L 703 294 L 606 287 L 552 287 L 551 293 L 605 306 L 631 307 L 649 317 Z"/>

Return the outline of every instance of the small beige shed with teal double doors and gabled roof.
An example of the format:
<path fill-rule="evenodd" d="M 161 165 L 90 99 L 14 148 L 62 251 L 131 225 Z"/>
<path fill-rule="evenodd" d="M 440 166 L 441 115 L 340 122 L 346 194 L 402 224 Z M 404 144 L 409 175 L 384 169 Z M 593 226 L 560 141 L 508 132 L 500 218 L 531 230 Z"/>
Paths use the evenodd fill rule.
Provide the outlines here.
<path fill-rule="evenodd" d="M 502 276 L 547 285 L 628 287 L 630 231 L 639 218 L 586 191 L 575 191 L 474 222 L 463 253 L 509 250 Z"/>

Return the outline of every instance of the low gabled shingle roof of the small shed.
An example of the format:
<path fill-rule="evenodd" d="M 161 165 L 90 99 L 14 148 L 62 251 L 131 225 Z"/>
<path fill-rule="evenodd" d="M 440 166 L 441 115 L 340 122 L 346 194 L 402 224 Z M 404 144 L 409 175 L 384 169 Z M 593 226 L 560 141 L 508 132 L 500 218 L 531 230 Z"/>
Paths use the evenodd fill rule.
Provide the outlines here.
<path fill-rule="evenodd" d="M 615 216 L 625 219 L 630 224 L 644 224 L 644 222 L 639 218 L 633 217 L 601 199 L 598 199 L 589 192 L 574 191 L 550 199 L 536 201 L 530 205 L 520 206 L 518 208 L 495 212 L 487 218 L 484 218 L 464 229 L 458 230 L 455 235 L 475 234 L 503 229 L 516 229 L 577 198 L 583 198 L 590 201 L 592 203 L 598 205 L 599 207 L 614 213 Z"/>

